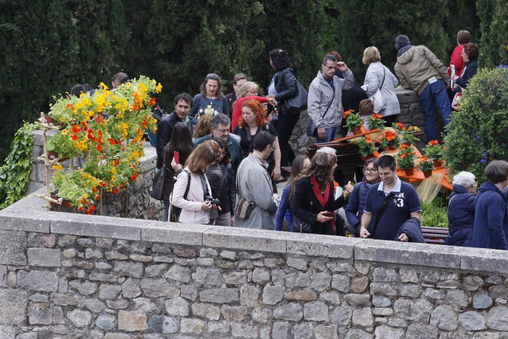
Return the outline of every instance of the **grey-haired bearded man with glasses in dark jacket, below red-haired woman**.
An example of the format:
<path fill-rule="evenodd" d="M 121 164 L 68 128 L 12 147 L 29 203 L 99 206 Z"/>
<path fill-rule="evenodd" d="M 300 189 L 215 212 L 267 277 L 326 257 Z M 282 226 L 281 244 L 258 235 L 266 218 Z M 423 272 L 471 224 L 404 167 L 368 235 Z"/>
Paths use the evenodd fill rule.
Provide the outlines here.
<path fill-rule="evenodd" d="M 218 113 L 212 118 L 212 134 L 205 135 L 204 137 L 197 139 L 194 141 L 194 145 L 197 146 L 203 141 L 210 140 L 211 138 L 223 139 L 231 155 L 231 165 L 233 165 L 233 171 L 236 172 L 236 169 L 240 166 L 240 163 L 243 160 L 243 151 L 238 141 L 230 135 L 230 128 L 230 118 L 224 113 Z"/>

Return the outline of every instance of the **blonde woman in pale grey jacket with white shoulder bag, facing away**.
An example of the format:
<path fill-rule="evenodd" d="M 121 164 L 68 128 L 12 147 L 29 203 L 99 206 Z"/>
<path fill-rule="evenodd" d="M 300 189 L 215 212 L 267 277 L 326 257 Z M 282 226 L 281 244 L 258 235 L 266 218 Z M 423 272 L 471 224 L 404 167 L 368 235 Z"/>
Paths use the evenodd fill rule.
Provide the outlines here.
<path fill-rule="evenodd" d="M 370 46 L 365 48 L 362 61 L 365 65 L 369 66 L 362 88 L 367 92 L 369 97 L 373 96 L 378 88 L 381 90 L 381 94 L 386 101 L 386 106 L 375 113 L 381 114 L 383 119 L 386 120 L 386 125 L 391 126 L 392 122 L 397 122 L 397 114 L 400 113 L 399 100 L 395 95 L 395 86 L 399 82 L 395 75 L 381 63 L 381 56 L 376 47 Z"/>

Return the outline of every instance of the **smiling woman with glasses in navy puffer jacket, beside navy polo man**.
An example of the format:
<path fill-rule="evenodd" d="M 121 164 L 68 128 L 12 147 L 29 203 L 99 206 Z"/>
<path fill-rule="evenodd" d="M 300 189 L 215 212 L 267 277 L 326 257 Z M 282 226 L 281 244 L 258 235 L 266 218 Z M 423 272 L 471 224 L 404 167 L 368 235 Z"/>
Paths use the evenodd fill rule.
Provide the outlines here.
<path fill-rule="evenodd" d="M 362 219 L 363 207 L 367 199 L 367 193 L 370 187 L 379 182 L 379 171 L 377 170 L 377 159 L 369 159 L 365 163 L 364 176 L 362 182 L 358 182 L 353 187 L 350 200 L 344 208 L 347 221 L 355 229 L 355 237 L 360 236 L 360 220 Z M 351 184 L 347 184 L 346 188 L 351 188 Z M 371 231 L 369 229 L 369 231 Z"/>

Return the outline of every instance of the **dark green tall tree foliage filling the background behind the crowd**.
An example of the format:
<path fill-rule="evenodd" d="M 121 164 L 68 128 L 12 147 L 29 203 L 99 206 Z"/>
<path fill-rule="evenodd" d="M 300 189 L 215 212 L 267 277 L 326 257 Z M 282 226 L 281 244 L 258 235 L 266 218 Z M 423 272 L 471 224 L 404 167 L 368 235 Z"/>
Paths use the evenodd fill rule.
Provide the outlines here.
<path fill-rule="evenodd" d="M 482 3 L 490 4 L 482 7 L 479 2 L 482 33 L 496 34 L 499 41 L 508 30 L 496 28 L 506 25 L 506 20 L 499 21 L 506 11 L 496 11 L 505 5 L 500 0 Z M 383 63 L 393 69 L 394 39 L 399 34 L 408 35 L 413 44 L 427 45 L 446 64 L 458 29 L 470 30 L 475 42 L 480 39 L 475 4 L 467 0 L 192 4 L 34 0 L 29 5 L 0 0 L 0 4 L 0 109 L 5 135 L 0 159 L 7 155 L 22 120 L 32 121 L 47 112 L 53 95 L 77 83 L 109 85 L 111 76 L 120 71 L 161 81 L 165 91 L 157 102 L 171 110 L 176 94 L 196 94 L 210 72 L 225 80 L 225 91 L 232 90 L 231 79 L 238 72 L 252 77 L 263 90 L 273 75 L 268 63 L 272 48 L 289 51 L 299 78 L 308 86 L 328 50 L 338 51 L 363 83 L 366 66 L 361 58 L 369 45 L 377 46 Z"/>

